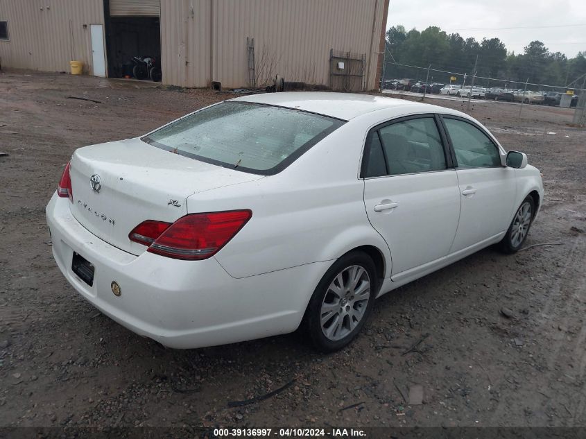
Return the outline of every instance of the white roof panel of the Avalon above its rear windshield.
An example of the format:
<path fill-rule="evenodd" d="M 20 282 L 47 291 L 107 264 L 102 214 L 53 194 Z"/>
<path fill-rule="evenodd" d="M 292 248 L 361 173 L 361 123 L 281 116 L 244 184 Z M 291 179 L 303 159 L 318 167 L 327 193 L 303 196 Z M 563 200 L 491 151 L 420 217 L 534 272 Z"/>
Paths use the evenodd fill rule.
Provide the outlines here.
<path fill-rule="evenodd" d="M 334 93 L 334 92 L 283 92 L 252 94 L 230 99 L 230 101 L 261 103 L 293 108 L 324 116 L 349 121 L 383 109 L 397 109 L 397 114 L 409 107 L 413 112 L 438 112 L 434 105 L 415 103 L 404 99 L 387 98 L 373 94 Z M 433 107 L 433 109 L 432 109 Z"/>

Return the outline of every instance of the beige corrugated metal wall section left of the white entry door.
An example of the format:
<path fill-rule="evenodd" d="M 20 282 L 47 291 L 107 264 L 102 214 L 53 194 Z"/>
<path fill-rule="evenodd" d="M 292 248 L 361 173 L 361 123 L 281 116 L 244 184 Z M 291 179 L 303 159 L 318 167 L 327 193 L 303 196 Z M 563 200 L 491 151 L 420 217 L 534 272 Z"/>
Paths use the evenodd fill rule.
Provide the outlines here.
<path fill-rule="evenodd" d="M 0 41 L 3 65 L 69 71 L 69 61 L 78 60 L 92 74 L 89 25 L 104 24 L 103 0 L 2 0 L 0 20 L 10 33 Z"/>

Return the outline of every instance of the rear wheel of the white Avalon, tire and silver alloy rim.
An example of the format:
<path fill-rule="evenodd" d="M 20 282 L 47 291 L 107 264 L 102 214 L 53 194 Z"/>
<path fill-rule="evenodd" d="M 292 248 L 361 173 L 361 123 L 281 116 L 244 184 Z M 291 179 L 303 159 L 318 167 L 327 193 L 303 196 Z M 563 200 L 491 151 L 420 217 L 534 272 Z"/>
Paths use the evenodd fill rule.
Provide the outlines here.
<path fill-rule="evenodd" d="M 354 275 L 357 282 L 352 281 Z M 302 329 L 318 350 L 340 350 L 361 331 L 378 291 L 372 258 L 360 251 L 347 253 L 327 270 L 313 291 Z"/>

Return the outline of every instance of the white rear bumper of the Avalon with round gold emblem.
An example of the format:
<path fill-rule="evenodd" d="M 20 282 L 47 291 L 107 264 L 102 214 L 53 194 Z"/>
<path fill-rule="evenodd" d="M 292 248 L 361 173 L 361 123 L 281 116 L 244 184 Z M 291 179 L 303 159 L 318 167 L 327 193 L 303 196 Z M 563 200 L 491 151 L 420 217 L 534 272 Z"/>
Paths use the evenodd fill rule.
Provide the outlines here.
<path fill-rule="evenodd" d="M 139 256 L 88 232 L 55 194 L 46 207 L 53 256 L 86 300 L 132 332 L 176 348 L 205 347 L 293 332 L 329 263 L 235 279 L 216 259 Z M 73 252 L 95 267 L 89 286 L 71 270 Z M 121 287 L 112 293 L 111 283 Z"/>

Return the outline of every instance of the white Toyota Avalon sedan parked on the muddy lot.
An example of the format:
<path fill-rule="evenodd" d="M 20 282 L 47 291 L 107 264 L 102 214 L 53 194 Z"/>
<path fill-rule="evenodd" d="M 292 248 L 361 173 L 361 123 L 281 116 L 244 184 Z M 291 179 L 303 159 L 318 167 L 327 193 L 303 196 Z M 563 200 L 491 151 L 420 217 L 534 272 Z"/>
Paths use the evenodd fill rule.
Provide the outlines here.
<path fill-rule="evenodd" d="M 499 244 L 521 248 L 539 171 L 456 110 L 259 94 L 79 148 L 46 207 L 89 302 L 176 348 L 302 327 L 347 345 L 375 298 Z"/>

